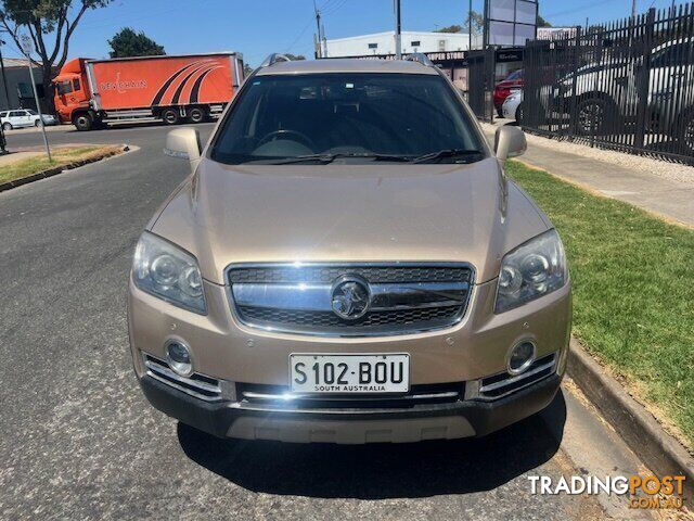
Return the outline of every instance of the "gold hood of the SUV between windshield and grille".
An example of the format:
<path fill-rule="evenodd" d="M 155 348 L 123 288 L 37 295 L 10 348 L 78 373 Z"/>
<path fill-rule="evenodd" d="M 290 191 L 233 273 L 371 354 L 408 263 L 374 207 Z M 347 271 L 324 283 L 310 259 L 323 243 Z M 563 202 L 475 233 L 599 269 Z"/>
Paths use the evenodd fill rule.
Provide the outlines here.
<path fill-rule="evenodd" d="M 149 228 L 223 284 L 232 263 L 280 262 L 467 262 L 481 282 L 548 226 L 493 157 L 283 166 L 205 158 Z"/>

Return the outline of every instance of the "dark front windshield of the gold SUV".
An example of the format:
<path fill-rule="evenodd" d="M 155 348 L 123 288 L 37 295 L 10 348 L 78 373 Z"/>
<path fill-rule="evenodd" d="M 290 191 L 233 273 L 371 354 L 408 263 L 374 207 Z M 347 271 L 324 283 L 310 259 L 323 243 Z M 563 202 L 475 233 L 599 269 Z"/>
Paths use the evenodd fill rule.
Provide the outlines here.
<path fill-rule="evenodd" d="M 438 162 L 484 157 L 475 124 L 438 75 L 273 75 L 249 81 L 222 123 L 215 161 L 296 162 L 316 154 L 403 161 L 442 150 L 449 153 L 437 155 Z"/>

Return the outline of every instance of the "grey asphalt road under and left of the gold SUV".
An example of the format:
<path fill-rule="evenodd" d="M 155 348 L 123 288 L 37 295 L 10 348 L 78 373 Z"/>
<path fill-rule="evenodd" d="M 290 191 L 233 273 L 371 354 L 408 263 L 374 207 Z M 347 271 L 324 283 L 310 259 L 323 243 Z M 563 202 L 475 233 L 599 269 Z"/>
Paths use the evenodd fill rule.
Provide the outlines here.
<path fill-rule="evenodd" d="M 206 138 L 211 125 L 197 128 Z M 564 520 L 615 508 L 530 494 L 528 475 L 635 465 L 568 390 L 486 439 L 416 445 L 218 441 L 150 407 L 126 282 L 139 233 L 187 174 L 162 154 L 166 130 L 54 130 L 53 143 L 140 150 L 0 193 L 0 519 Z"/>

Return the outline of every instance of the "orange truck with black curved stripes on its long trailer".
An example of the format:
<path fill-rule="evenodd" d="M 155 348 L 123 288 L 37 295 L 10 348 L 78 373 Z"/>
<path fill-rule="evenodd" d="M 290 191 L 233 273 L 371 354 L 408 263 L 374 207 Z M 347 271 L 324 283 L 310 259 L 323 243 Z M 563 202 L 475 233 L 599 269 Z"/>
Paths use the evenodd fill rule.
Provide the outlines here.
<path fill-rule="evenodd" d="M 140 118 L 201 123 L 221 114 L 233 98 L 243 82 L 243 58 L 233 52 L 76 58 L 54 82 L 57 114 L 78 130 Z"/>

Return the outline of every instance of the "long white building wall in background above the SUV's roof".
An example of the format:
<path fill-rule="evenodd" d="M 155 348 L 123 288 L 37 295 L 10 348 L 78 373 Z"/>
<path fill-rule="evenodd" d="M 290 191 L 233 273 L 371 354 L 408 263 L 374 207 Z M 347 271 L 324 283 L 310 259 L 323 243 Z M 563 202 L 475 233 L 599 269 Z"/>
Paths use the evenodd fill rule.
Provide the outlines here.
<path fill-rule="evenodd" d="M 467 50 L 466 33 L 402 31 L 402 52 L 439 52 Z M 413 46 L 419 42 L 419 46 Z M 369 46 L 375 45 L 375 48 Z M 326 41 L 327 58 L 395 54 L 395 31 L 337 38 Z"/>

